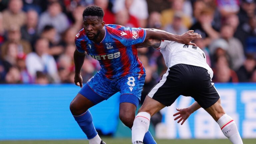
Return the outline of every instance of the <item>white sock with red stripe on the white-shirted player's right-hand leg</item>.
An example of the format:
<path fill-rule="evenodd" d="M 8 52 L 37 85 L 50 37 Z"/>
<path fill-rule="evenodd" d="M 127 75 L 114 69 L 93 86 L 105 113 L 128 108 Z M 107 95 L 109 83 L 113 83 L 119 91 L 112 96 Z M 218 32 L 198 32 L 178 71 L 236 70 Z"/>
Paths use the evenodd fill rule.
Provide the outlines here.
<path fill-rule="evenodd" d="M 240 134 L 237 130 L 237 126 L 235 121 L 224 114 L 220 119 L 217 121 L 220 126 L 221 131 L 223 134 L 233 143 L 233 144 L 243 144 L 243 141 L 240 137 Z"/>

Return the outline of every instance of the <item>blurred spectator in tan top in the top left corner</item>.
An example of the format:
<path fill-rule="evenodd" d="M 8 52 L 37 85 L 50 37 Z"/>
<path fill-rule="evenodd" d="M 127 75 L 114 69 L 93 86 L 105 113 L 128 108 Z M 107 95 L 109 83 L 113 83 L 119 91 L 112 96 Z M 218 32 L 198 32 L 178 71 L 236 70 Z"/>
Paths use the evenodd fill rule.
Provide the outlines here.
<path fill-rule="evenodd" d="M 22 11 L 22 0 L 10 0 L 8 9 L 3 11 L 3 24 L 5 30 L 9 30 L 10 26 L 21 27 L 26 22 L 26 14 Z"/>

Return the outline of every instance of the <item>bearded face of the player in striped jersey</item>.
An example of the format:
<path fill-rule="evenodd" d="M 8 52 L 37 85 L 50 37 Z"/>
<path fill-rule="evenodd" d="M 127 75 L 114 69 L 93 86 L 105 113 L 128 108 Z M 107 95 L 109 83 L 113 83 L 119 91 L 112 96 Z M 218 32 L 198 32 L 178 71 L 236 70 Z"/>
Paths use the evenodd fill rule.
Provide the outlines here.
<path fill-rule="evenodd" d="M 90 40 L 96 40 L 100 35 L 100 30 L 104 26 L 104 22 L 98 16 L 84 16 L 83 27 L 87 37 Z"/>

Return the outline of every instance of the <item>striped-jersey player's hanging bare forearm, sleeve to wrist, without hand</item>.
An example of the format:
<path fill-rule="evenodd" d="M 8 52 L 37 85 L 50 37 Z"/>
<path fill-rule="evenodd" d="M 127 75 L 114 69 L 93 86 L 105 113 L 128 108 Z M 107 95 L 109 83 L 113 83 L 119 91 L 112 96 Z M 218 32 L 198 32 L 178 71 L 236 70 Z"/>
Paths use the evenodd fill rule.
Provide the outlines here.
<path fill-rule="evenodd" d="M 75 74 L 80 74 L 82 65 L 84 63 L 85 54 L 79 53 L 77 50 L 74 52 Z"/>

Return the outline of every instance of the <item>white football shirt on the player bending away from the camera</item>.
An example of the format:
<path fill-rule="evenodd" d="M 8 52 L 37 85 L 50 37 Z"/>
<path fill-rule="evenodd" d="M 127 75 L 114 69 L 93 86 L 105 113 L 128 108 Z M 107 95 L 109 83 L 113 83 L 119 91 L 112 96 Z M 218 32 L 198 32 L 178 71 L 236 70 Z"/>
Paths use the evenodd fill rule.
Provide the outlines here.
<path fill-rule="evenodd" d="M 176 64 L 193 65 L 205 68 L 211 78 L 213 77 L 213 71 L 206 63 L 205 53 L 199 47 L 174 41 L 162 41 L 158 49 L 160 49 L 168 68 Z"/>

